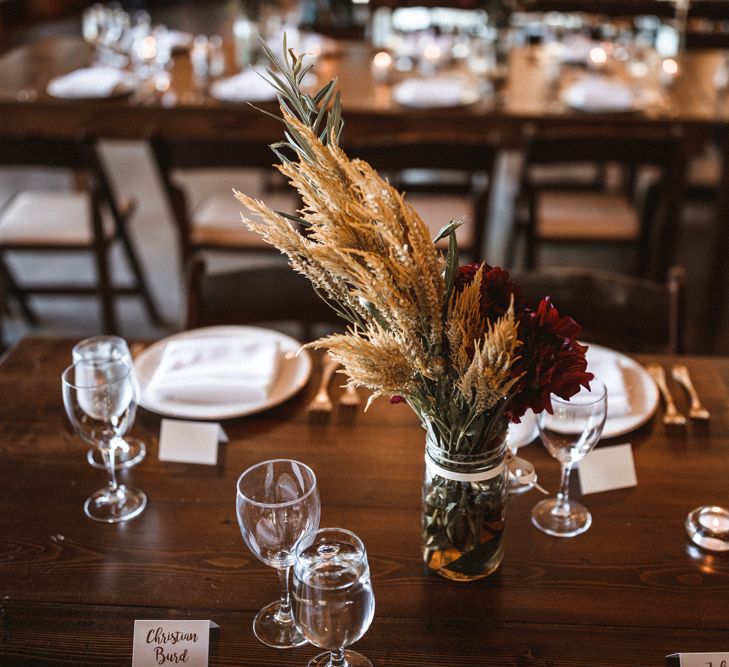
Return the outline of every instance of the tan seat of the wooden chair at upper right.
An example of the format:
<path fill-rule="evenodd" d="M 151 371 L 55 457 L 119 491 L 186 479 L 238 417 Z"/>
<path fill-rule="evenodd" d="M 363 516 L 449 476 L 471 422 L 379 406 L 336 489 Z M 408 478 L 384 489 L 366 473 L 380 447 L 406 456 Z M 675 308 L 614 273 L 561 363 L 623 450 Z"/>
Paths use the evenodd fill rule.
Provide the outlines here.
<path fill-rule="evenodd" d="M 539 238 L 628 241 L 639 234 L 638 211 L 621 195 L 582 191 L 537 195 Z"/>

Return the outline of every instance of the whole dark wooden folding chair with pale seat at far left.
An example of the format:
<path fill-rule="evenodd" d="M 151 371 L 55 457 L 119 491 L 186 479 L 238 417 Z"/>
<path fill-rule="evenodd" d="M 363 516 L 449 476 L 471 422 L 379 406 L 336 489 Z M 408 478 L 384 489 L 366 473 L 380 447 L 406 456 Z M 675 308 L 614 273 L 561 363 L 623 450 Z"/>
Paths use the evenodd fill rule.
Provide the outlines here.
<path fill-rule="evenodd" d="M 0 165 L 72 170 L 81 185 L 76 191 L 18 192 L 0 210 L 0 281 L 27 319 L 37 321 L 28 303 L 29 295 L 95 294 L 100 299 L 103 328 L 108 333 L 118 331 L 114 299 L 119 295 L 140 296 L 149 317 L 160 322 L 126 228 L 134 203 L 115 199 L 91 140 L 0 136 Z M 112 284 L 109 250 L 117 240 L 133 274 L 129 287 Z M 97 274 L 94 284 L 21 284 L 4 261 L 7 253 L 72 251 L 93 254 Z"/>

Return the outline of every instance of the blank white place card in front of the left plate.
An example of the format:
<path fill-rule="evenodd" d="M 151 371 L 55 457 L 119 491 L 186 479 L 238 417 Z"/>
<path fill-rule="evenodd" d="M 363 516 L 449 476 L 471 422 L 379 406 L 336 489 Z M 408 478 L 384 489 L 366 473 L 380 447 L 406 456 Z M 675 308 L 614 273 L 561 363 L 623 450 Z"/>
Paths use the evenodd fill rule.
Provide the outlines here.
<path fill-rule="evenodd" d="M 218 442 L 228 436 L 217 422 L 163 419 L 159 434 L 159 460 L 215 465 Z"/>

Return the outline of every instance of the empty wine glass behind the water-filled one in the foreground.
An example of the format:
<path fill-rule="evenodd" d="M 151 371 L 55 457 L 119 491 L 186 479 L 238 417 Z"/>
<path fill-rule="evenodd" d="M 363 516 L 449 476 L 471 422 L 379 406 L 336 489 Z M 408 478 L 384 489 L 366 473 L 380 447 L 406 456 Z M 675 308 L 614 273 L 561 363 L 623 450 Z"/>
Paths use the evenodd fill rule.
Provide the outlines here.
<path fill-rule="evenodd" d="M 238 479 L 236 514 L 248 548 L 266 565 L 276 568 L 281 599 L 258 612 L 253 633 L 274 648 L 306 643 L 291 612 L 289 570 L 294 548 L 319 527 L 319 491 L 309 466 L 289 459 L 263 461 Z"/>

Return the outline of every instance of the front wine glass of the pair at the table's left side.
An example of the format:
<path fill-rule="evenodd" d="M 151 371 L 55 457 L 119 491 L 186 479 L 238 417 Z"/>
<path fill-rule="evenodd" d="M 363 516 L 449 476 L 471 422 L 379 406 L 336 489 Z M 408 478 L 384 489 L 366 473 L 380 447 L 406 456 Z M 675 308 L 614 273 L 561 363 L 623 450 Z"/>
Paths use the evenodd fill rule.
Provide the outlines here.
<path fill-rule="evenodd" d="M 94 521 L 118 523 L 134 518 L 147 496 L 118 484 L 114 466 L 117 443 L 134 423 L 137 409 L 131 368 L 121 359 L 79 361 L 63 371 L 63 405 L 75 431 L 101 450 L 109 484 L 84 503 Z"/>

